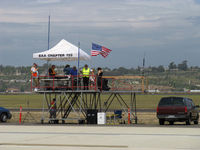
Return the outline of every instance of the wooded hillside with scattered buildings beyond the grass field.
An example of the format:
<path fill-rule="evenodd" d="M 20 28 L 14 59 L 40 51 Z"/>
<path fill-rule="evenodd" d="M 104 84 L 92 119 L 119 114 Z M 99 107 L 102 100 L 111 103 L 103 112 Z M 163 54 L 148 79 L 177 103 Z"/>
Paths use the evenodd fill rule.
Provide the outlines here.
<path fill-rule="evenodd" d="M 50 66 L 51 64 L 49 64 Z M 62 70 L 64 66 L 56 66 L 58 70 Z M 18 88 L 20 91 L 30 89 L 30 73 L 31 66 L 3 66 L 0 65 L 0 92 L 6 91 L 8 88 Z M 39 73 L 46 74 L 48 65 L 39 66 Z M 185 87 L 196 88 L 200 85 L 200 67 L 188 66 L 188 61 L 184 60 L 179 64 L 170 62 L 168 66 L 149 66 L 136 68 L 119 67 L 110 69 L 103 68 L 104 75 L 135 75 L 146 76 L 149 78 L 149 84 L 168 85 L 173 88 L 183 89 Z M 191 76 L 193 74 L 193 76 Z M 12 82 L 11 82 L 12 81 Z M 199 82 L 199 83 L 198 83 Z M 190 84 L 188 84 L 190 83 Z"/>

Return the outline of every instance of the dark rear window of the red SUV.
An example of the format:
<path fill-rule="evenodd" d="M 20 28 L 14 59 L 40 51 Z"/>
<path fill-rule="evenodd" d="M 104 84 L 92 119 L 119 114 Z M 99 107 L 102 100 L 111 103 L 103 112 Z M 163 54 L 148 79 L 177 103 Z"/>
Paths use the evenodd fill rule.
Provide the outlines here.
<path fill-rule="evenodd" d="M 165 97 L 160 100 L 159 106 L 183 106 L 183 98 L 181 97 Z"/>

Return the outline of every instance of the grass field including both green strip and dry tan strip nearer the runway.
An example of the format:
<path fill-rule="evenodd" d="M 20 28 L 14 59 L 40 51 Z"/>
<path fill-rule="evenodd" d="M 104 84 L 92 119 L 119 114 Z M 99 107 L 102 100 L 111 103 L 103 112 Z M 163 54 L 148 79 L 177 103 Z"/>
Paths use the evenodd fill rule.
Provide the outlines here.
<path fill-rule="evenodd" d="M 136 104 L 137 109 L 156 109 L 157 104 L 161 97 L 166 96 L 177 96 L 177 95 L 136 95 Z M 199 95 L 178 95 L 183 97 L 188 97 L 193 99 L 196 105 L 200 104 L 200 94 Z M 130 104 L 130 95 L 122 95 L 127 104 Z M 108 95 L 103 95 L 102 101 L 105 101 L 108 98 Z M 6 108 L 15 108 L 18 109 L 20 106 L 23 108 L 28 108 L 27 103 L 29 102 L 30 108 L 43 108 L 44 95 L 40 94 L 24 94 L 24 95 L 0 95 L 0 106 Z M 47 107 L 46 104 L 44 105 Z M 110 109 L 120 109 L 120 105 L 117 101 L 114 101 Z M 22 120 L 25 118 L 27 112 L 23 111 Z M 35 122 L 40 123 L 42 112 L 31 112 L 35 120 L 25 120 L 24 122 Z M 19 121 L 19 112 L 12 112 L 12 119 L 9 122 L 18 122 Z M 48 114 L 47 114 L 48 115 Z M 138 112 L 138 123 L 139 124 L 158 124 L 158 119 L 156 118 L 155 112 Z M 29 117 L 30 119 L 30 117 Z"/>

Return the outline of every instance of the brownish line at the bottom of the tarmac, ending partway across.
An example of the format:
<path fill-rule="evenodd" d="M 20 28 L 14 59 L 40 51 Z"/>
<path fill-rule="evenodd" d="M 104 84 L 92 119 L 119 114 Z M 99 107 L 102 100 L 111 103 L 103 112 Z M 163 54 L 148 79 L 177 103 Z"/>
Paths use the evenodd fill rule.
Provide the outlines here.
<path fill-rule="evenodd" d="M 99 147 L 99 148 L 128 148 L 126 145 L 81 145 L 81 144 L 25 144 L 25 143 L 0 143 L 0 146 L 56 146 L 56 147 Z"/>

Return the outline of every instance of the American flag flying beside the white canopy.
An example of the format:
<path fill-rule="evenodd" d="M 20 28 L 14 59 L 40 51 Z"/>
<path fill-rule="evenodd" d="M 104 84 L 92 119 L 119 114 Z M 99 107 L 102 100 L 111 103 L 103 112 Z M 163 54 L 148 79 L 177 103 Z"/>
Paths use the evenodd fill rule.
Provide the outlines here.
<path fill-rule="evenodd" d="M 92 43 L 91 56 L 97 56 L 97 55 L 101 54 L 104 58 L 106 58 L 111 51 L 112 50 L 110 50 L 104 46 L 100 46 L 98 44 Z"/>

